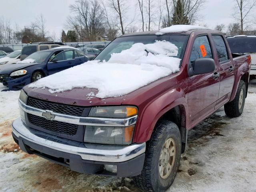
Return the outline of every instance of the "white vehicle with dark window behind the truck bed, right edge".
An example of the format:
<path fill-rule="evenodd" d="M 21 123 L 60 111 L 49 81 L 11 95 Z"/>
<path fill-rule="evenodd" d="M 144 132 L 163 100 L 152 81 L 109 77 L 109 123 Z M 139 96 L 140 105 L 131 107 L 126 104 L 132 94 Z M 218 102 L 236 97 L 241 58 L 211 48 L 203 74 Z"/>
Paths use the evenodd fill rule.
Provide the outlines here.
<path fill-rule="evenodd" d="M 227 40 L 232 53 L 240 55 L 250 54 L 252 58 L 250 78 L 256 78 L 256 36 L 237 35 L 227 37 Z"/>

